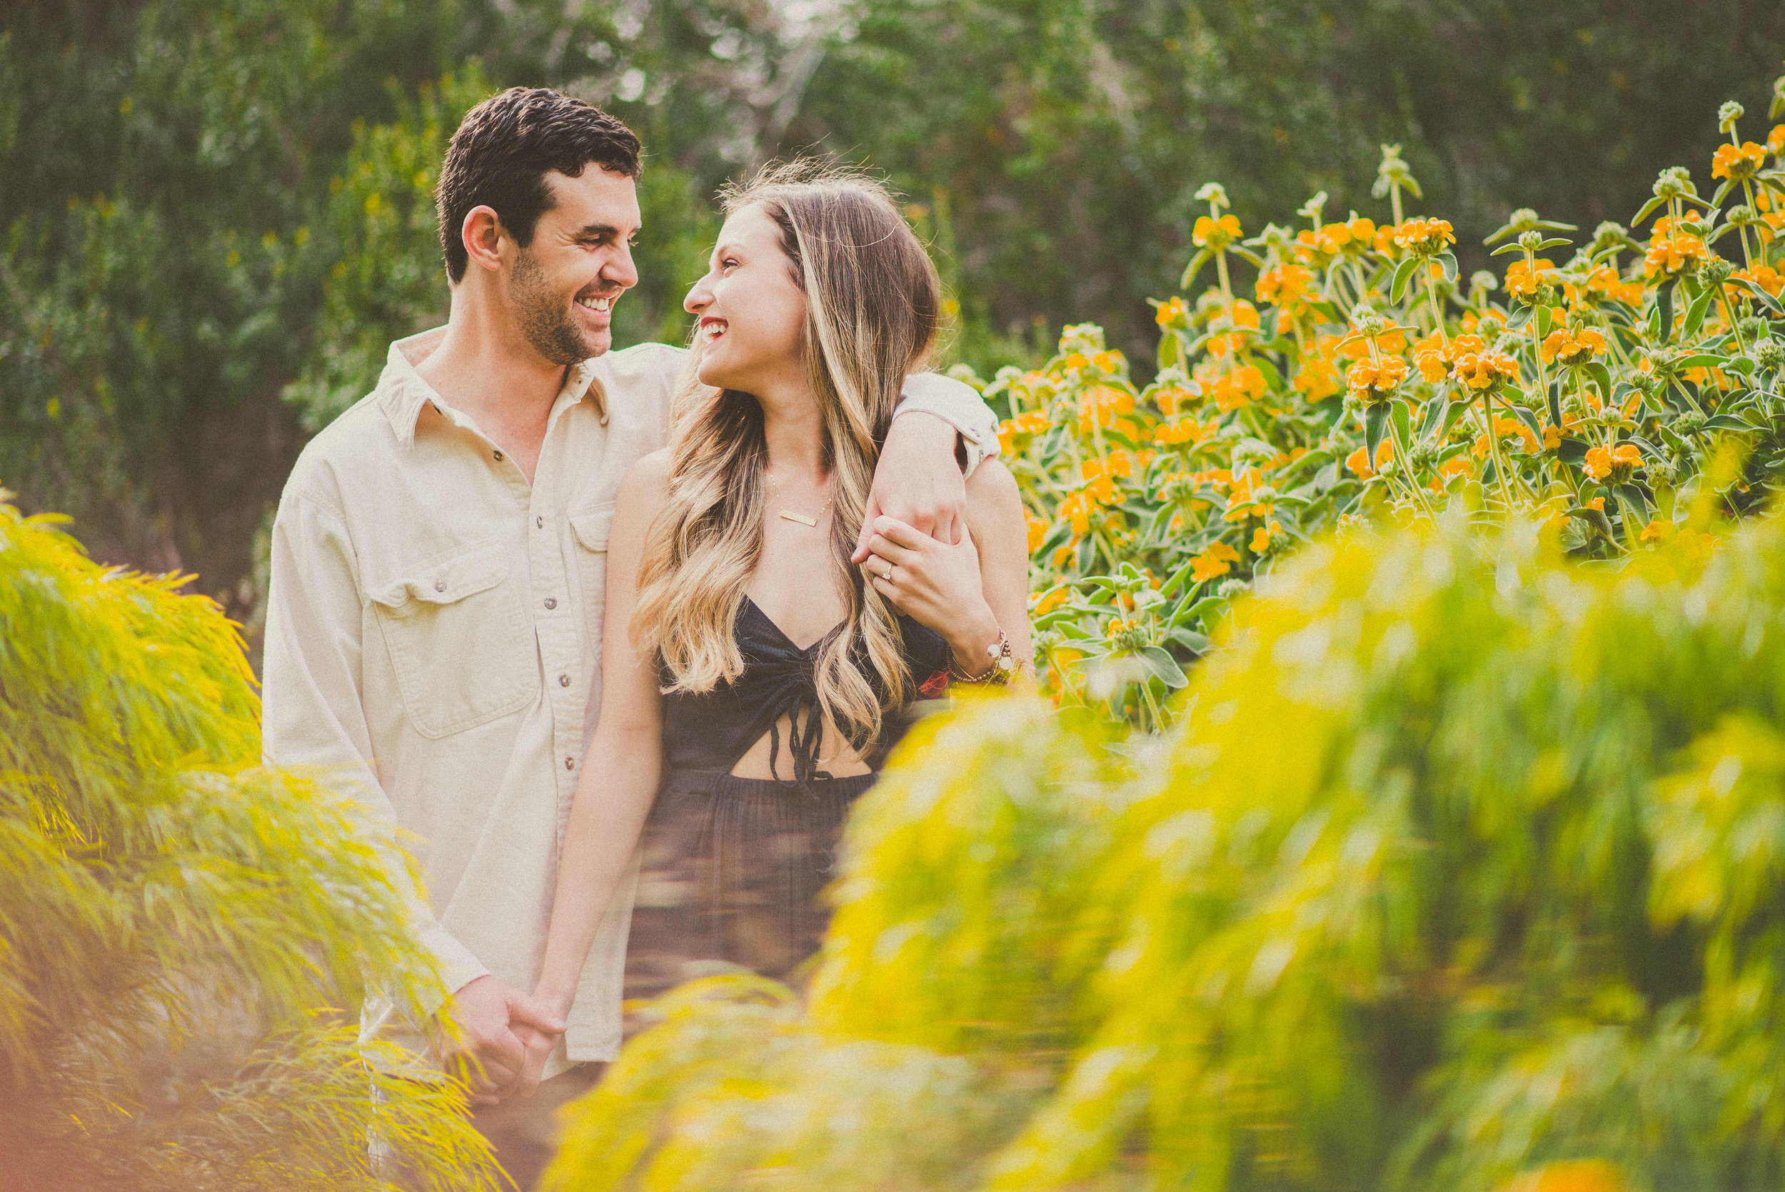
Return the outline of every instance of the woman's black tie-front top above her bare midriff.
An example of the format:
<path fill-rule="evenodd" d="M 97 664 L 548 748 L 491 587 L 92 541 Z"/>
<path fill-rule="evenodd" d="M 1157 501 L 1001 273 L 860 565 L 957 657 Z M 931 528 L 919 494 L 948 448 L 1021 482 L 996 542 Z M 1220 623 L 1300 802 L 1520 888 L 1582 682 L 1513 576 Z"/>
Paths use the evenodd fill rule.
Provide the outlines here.
<path fill-rule="evenodd" d="M 785 716 L 793 780 L 828 778 L 818 769 L 823 719 L 818 712 L 812 667 L 819 646 L 830 635 L 800 650 L 748 596 L 737 610 L 732 632 L 744 657 L 744 671 L 735 680 L 705 692 L 664 696 L 666 771 L 730 773 L 764 733 L 771 733 L 769 773 L 778 776 L 782 742 L 776 724 Z M 942 635 L 901 616 L 900 641 L 910 682 L 923 694 L 941 694 L 948 683 L 948 644 Z M 871 667 L 862 669 L 873 675 Z M 668 685 L 671 680 L 662 662 L 659 673 Z M 878 687 L 878 676 L 873 678 Z M 880 737 L 866 758 L 871 769 L 880 769 L 909 726 L 909 719 L 900 716 L 898 708 L 882 716 Z"/>

